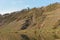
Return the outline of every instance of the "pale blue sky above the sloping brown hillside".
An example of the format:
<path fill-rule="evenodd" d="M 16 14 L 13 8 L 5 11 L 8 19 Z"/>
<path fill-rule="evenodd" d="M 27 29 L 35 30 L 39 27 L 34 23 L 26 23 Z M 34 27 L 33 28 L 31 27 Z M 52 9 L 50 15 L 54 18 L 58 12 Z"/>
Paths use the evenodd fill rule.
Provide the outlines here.
<path fill-rule="evenodd" d="M 41 7 L 59 2 L 60 0 L 0 0 L 0 14 L 19 11 L 30 7 Z"/>

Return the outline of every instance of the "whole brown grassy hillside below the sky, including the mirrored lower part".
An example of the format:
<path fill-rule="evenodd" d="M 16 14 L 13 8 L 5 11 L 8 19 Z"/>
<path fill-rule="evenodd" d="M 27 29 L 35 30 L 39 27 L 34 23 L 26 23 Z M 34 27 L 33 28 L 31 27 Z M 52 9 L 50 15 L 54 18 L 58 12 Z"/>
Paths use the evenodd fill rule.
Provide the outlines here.
<path fill-rule="evenodd" d="M 60 40 L 60 3 L 0 15 L 0 40 Z"/>

